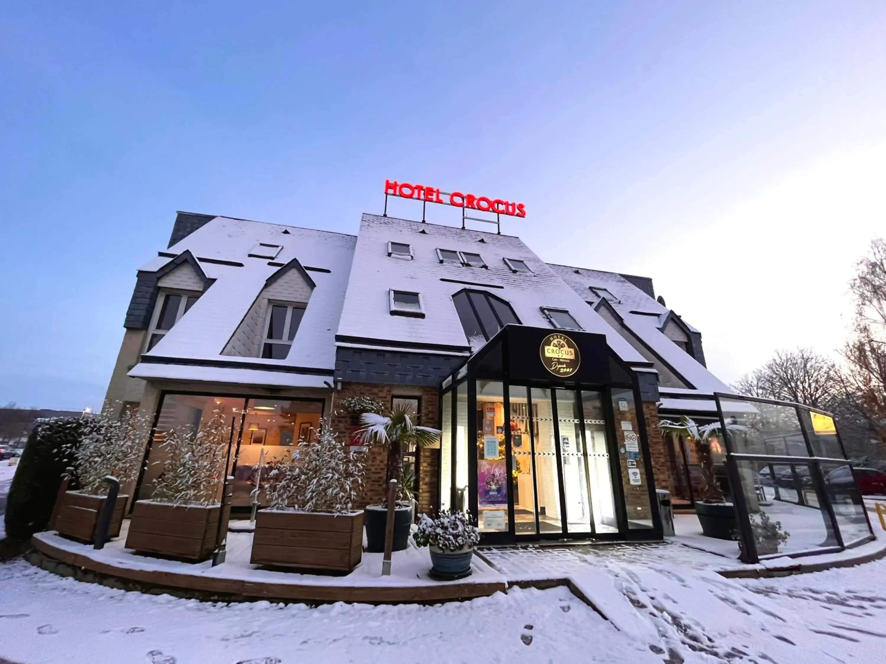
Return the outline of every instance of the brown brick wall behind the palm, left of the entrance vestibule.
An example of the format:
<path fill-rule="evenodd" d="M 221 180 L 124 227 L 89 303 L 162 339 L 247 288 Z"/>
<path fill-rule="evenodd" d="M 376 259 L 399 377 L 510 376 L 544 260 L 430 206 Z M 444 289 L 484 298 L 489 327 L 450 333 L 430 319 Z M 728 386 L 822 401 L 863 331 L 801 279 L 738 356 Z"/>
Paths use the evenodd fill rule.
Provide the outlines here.
<path fill-rule="evenodd" d="M 420 424 L 424 427 L 439 429 L 439 390 L 431 387 L 407 387 L 366 382 L 343 382 L 342 389 L 336 390 L 336 405 L 333 405 L 332 428 L 347 435 L 356 424 L 351 415 L 338 408 L 338 401 L 346 397 L 369 397 L 377 399 L 385 407 L 390 408 L 392 398 L 419 398 L 421 413 Z M 380 503 L 385 497 L 385 470 L 387 452 L 381 446 L 369 448 L 366 459 L 366 484 L 363 495 L 358 499 L 358 506 Z M 418 452 L 418 487 L 419 509 L 425 512 L 437 508 L 439 485 L 439 450 L 425 448 Z"/>

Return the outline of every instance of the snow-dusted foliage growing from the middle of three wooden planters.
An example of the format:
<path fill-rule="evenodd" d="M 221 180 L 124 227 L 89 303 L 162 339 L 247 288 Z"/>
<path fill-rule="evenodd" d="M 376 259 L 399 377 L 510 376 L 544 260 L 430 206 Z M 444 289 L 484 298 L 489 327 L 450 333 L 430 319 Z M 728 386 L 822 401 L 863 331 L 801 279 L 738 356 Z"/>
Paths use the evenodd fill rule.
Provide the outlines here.
<path fill-rule="evenodd" d="M 163 471 L 154 481 L 152 500 L 171 505 L 214 505 L 224 481 L 229 425 L 224 414 L 212 418 L 195 436 L 188 427 L 169 429 L 159 444 Z"/>

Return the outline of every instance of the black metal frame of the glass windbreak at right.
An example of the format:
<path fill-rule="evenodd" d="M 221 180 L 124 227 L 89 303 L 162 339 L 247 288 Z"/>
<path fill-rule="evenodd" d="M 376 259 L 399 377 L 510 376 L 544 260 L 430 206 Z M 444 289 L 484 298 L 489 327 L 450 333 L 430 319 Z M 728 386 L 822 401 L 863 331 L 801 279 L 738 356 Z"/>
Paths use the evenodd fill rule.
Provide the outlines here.
<path fill-rule="evenodd" d="M 831 503 L 831 499 L 828 495 L 827 484 L 825 482 L 824 474 L 821 471 L 820 464 L 829 463 L 829 464 L 839 464 L 841 466 L 848 466 L 851 470 L 853 480 L 855 478 L 855 471 L 852 467 L 851 461 L 848 459 L 846 455 L 846 448 L 843 445 L 843 439 L 840 436 L 839 429 L 836 428 L 836 419 L 833 414 L 827 413 L 826 411 L 822 411 L 818 408 L 812 408 L 807 405 L 797 404 L 789 401 L 778 401 L 777 399 L 767 399 L 767 398 L 756 398 L 756 397 L 746 397 L 744 395 L 735 395 L 735 394 L 726 394 L 722 392 L 714 392 L 714 400 L 717 404 L 717 413 L 719 415 L 719 422 L 721 431 L 723 433 L 723 441 L 726 444 L 726 467 L 727 467 L 727 475 L 729 477 L 729 483 L 732 485 L 732 498 L 733 504 L 735 507 L 735 517 L 739 523 L 739 536 L 741 537 L 742 543 L 742 561 L 748 563 L 757 563 L 759 560 L 766 560 L 770 558 L 778 558 L 781 556 L 789 556 L 790 558 L 801 558 L 804 556 L 810 555 L 818 555 L 820 553 L 830 553 L 830 552 L 840 552 L 847 548 L 853 548 L 855 546 L 859 546 L 860 544 L 864 544 L 869 542 L 874 538 L 874 529 L 871 526 L 870 516 L 867 513 L 867 509 L 864 508 L 864 498 L 862 497 L 862 513 L 865 515 L 865 521 L 867 522 L 868 529 L 868 537 L 862 537 L 855 541 L 853 541 L 848 546 L 845 544 L 843 539 L 843 533 L 840 530 L 840 524 L 836 519 L 836 514 L 834 512 L 834 506 Z M 726 417 L 723 414 L 723 405 L 720 401 L 721 398 L 728 399 L 730 401 L 744 401 L 748 403 L 758 403 L 758 404 L 767 404 L 767 405 L 779 405 L 783 407 L 792 408 L 794 413 L 797 415 L 797 422 L 800 427 L 800 434 L 803 436 L 804 444 L 806 446 L 807 456 L 799 457 L 790 454 L 756 454 L 756 453 L 746 453 L 746 452 L 735 452 L 734 449 L 734 441 L 732 439 L 732 434 L 727 429 Z M 812 447 L 812 439 L 810 437 L 810 432 L 806 429 L 806 422 L 802 415 L 802 412 L 806 411 L 807 413 L 820 413 L 822 415 L 827 415 L 835 422 L 835 436 L 837 443 L 839 444 L 840 451 L 843 453 L 843 459 L 834 459 L 829 457 L 819 457 L 816 455 L 815 450 Z M 753 530 L 751 529 L 750 524 L 750 510 L 748 508 L 747 501 L 744 496 L 744 489 L 742 487 L 742 478 L 738 468 L 739 461 L 762 461 L 768 462 L 769 467 L 772 467 L 773 464 L 779 465 L 789 465 L 794 473 L 795 477 L 797 475 L 797 471 L 794 466 L 806 466 L 810 469 L 810 477 L 812 479 L 813 488 L 815 490 L 816 497 L 819 501 L 818 509 L 827 514 L 827 519 L 824 521 L 825 529 L 828 530 L 828 535 L 833 536 L 836 541 L 836 546 L 828 546 L 828 547 L 820 547 L 818 549 L 809 550 L 809 551 L 800 551 L 800 552 L 782 552 L 782 553 L 770 553 L 763 556 L 760 556 L 757 550 L 757 543 L 754 541 Z M 772 471 L 770 471 L 772 472 Z M 774 483 L 773 476 L 773 483 Z M 776 485 L 777 486 L 777 485 Z M 799 485 L 797 487 L 799 489 Z M 855 484 L 855 489 L 858 491 L 858 484 Z M 777 492 L 776 488 L 776 492 Z M 798 496 L 800 495 L 800 491 L 797 491 Z M 861 497 L 861 492 L 858 491 L 859 497 Z M 801 503 L 797 503 L 800 505 Z"/>

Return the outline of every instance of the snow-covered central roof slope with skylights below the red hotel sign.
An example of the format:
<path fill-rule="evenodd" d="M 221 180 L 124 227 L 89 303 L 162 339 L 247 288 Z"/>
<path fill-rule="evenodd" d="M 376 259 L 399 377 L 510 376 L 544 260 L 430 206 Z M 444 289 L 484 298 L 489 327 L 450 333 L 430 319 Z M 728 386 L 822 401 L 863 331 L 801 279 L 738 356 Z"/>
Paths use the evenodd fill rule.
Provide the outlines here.
<path fill-rule="evenodd" d="M 413 259 L 388 256 L 389 242 L 408 243 Z M 486 267 L 440 263 L 437 249 L 478 253 Z M 532 274 L 515 274 L 504 259 L 523 260 Z M 471 347 L 476 351 L 483 340 L 466 338 L 452 297 L 465 289 L 486 290 L 506 300 L 524 325 L 549 328 L 540 307 L 567 309 L 582 328 L 605 335 L 621 359 L 647 362 L 567 288 L 547 263 L 512 235 L 364 214 L 351 273 L 338 326 L 341 342 L 378 340 L 386 345 L 444 346 L 454 351 Z M 390 290 L 420 293 L 424 318 L 392 315 Z"/>

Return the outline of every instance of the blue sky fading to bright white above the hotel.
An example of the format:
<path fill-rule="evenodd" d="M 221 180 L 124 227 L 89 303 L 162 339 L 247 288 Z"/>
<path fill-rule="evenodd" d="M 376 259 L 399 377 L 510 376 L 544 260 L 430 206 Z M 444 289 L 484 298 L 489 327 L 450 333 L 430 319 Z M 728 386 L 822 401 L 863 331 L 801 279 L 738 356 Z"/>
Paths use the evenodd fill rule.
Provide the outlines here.
<path fill-rule="evenodd" d="M 886 235 L 886 4 L 428 5 L 4 4 L 0 404 L 100 405 L 176 210 L 354 233 L 385 178 L 652 276 L 727 381 L 842 344 Z"/>

